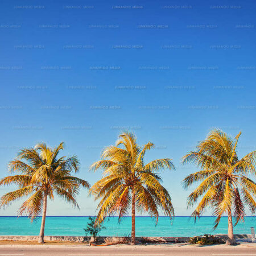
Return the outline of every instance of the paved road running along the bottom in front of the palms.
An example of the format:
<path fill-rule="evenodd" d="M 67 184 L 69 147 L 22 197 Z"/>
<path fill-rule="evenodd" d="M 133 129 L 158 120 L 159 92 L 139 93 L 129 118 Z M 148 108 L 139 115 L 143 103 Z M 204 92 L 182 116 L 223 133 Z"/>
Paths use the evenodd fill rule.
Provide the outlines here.
<path fill-rule="evenodd" d="M 230 246 L 230 247 L 217 247 L 217 246 L 207 246 L 207 247 L 154 247 L 154 246 L 135 246 L 133 248 L 122 246 L 119 247 L 39 247 L 39 246 L 27 246 L 18 247 L 10 246 L 4 247 L 0 246 L 0 255 L 9 256 L 23 256 L 23 255 L 53 255 L 53 256 L 145 256 L 145 255 L 184 255 L 184 256 L 198 256 L 198 255 L 256 255 L 256 247 L 246 247 L 246 246 Z"/>

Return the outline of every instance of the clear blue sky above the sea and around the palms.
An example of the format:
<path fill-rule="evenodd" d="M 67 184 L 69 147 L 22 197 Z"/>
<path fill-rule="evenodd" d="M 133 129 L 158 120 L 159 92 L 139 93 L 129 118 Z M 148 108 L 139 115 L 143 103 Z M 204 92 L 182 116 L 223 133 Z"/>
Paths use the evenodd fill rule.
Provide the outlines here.
<path fill-rule="evenodd" d="M 131 129 L 156 145 L 146 160 L 174 160 L 164 186 L 188 216 L 181 180 L 196 168 L 181 157 L 213 127 L 242 131 L 240 157 L 256 148 L 255 11 L 254 0 L 2 0 L 0 177 L 20 148 L 64 141 L 93 184 L 90 164 Z M 80 210 L 56 199 L 47 213 L 95 214 L 87 191 L 77 200 Z"/>

